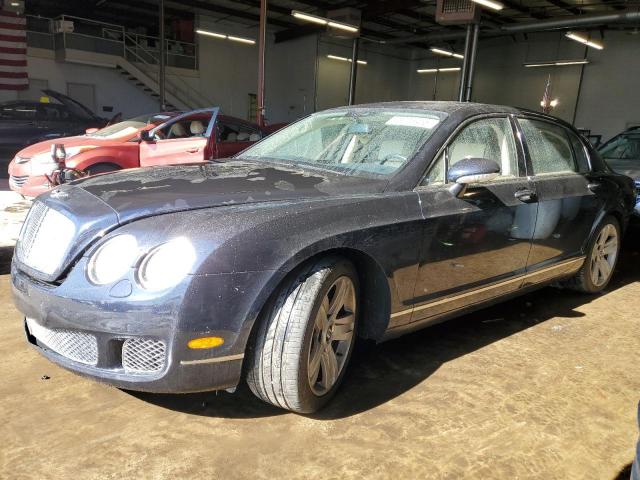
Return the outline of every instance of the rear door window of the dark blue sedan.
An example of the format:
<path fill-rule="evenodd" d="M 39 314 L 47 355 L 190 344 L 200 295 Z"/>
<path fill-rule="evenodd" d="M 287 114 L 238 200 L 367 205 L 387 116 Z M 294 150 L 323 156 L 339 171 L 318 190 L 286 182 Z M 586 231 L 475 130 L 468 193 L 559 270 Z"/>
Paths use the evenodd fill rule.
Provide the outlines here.
<path fill-rule="evenodd" d="M 577 171 L 566 130 L 549 122 L 519 119 L 534 175 Z"/>

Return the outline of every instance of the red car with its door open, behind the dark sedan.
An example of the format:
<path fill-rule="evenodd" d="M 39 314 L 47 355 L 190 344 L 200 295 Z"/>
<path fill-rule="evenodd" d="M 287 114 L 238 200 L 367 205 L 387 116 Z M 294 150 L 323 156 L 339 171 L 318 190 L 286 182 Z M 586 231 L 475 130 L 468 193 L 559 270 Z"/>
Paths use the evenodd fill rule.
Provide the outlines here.
<path fill-rule="evenodd" d="M 31 145 L 9 164 L 9 186 L 28 197 L 49 190 L 58 168 L 51 147 L 63 144 L 67 168 L 95 175 L 124 168 L 192 163 L 235 155 L 270 133 L 218 108 L 143 115 L 86 135 Z"/>

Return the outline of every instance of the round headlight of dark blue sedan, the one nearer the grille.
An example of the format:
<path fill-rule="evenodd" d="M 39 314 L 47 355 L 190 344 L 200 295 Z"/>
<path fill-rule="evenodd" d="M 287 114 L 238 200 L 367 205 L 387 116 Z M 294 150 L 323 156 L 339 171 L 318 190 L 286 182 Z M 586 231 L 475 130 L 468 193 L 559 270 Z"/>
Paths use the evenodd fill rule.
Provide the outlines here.
<path fill-rule="evenodd" d="M 118 235 L 95 251 L 87 265 L 89 280 L 96 285 L 113 283 L 135 264 L 138 242 L 133 235 Z"/>

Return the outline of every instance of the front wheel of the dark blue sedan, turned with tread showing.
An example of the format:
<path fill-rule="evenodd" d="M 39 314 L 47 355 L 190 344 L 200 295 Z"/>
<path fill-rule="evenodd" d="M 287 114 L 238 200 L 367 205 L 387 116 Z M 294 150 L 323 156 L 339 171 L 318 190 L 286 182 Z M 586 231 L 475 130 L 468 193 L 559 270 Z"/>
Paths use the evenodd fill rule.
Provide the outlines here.
<path fill-rule="evenodd" d="M 297 413 L 322 408 L 344 377 L 356 337 L 358 276 L 343 259 L 314 262 L 266 307 L 247 383 L 261 400 Z"/>

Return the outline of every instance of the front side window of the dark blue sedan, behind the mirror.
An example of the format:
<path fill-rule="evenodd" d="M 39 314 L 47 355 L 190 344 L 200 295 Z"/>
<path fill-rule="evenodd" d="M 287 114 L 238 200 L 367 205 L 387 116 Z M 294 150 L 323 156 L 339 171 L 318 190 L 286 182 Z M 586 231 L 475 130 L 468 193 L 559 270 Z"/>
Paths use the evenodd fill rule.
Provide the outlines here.
<path fill-rule="evenodd" d="M 500 165 L 502 177 L 517 177 L 518 154 L 508 118 L 486 118 L 466 126 L 433 163 L 422 185 L 446 183 L 445 171 L 465 158 L 486 158 Z"/>

